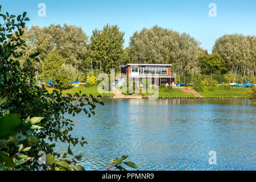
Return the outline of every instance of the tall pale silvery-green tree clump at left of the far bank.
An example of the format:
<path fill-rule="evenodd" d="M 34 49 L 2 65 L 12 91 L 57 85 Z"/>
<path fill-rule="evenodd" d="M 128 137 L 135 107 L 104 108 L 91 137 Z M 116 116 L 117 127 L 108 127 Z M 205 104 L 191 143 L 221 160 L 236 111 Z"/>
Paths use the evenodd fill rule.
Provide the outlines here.
<path fill-rule="evenodd" d="M 32 26 L 30 29 L 23 28 L 23 31 L 22 38 L 27 44 L 27 49 L 23 51 L 23 56 L 19 57 L 20 63 L 26 64 L 26 59 L 29 58 L 31 53 L 40 52 L 39 57 L 42 62 L 37 65 L 39 75 L 46 75 L 43 63 L 47 55 L 51 54 L 53 50 L 60 57 L 63 57 L 65 64 L 70 64 L 71 67 L 77 70 L 81 69 L 82 62 L 85 60 L 88 42 L 88 37 L 81 27 L 68 26 L 67 24 L 63 26 L 51 24 L 49 27 L 43 28 L 38 26 Z M 62 64 L 59 64 L 59 68 Z M 77 77 L 79 77 L 78 71 Z"/>

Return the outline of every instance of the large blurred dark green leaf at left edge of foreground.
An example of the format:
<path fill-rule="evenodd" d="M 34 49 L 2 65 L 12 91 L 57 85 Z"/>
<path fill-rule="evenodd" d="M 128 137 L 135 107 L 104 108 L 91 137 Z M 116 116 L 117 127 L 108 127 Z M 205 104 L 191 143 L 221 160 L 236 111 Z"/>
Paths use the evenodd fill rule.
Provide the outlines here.
<path fill-rule="evenodd" d="M 5 115 L 0 118 L 0 139 L 9 137 L 24 128 L 18 114 Z"/>

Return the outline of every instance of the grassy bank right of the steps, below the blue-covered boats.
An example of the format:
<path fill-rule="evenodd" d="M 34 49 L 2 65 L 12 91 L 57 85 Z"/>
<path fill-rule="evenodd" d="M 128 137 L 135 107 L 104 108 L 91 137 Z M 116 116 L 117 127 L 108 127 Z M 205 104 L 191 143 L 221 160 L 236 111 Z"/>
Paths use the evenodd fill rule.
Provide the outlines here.
<path fill-rule="evenodd" d="M 199 92 L 203 97 L 249 97 L 249 88 L 231 87 L 230 89 L 219 86 L 217 88 L 203 88 L 203 92 Z"/>

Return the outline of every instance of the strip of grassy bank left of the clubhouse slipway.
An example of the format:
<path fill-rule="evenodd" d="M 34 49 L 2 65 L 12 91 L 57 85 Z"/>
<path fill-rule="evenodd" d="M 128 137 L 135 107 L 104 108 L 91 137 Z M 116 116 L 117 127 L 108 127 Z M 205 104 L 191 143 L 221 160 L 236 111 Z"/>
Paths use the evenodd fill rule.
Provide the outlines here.
<path fill-rule="evenodd" d="M 53 88 L 46 88 L 48 90 L 49 93 L 52 92 Z M 90 94 L 92 94 L 92 96 L 98 96 L 98 95 L 101 95 L 102 97 L 106 96 L 106 97 L 109 97 L 109 96 L 114 96 L 113 93 L 98 93 L 98 90 L 97 90 L 97 86 L 90 86 L 90 87 L 85 87 L 85 86 L 74 86 L 73 88 L 71 89 L 68 89 L 68 90 L 63 90 L 62 93 L 64 96 L 67 96 L 67 93 L 70 93 L 70 94 L 75 94 L 76 92 L 79 93 L 79 90 L 81 90 L 81 94 L 86 94 L 86 96 L 89 96 Z"/>

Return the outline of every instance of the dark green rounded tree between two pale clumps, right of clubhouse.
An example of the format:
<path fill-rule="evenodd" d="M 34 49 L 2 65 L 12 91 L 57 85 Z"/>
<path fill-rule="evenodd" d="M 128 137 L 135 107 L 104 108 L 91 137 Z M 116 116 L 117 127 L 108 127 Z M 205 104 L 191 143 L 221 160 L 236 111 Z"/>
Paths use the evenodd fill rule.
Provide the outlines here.
<path fill-rule="evenodd" d="M 226 72 L 225 61 L 217 54 L 206 55 L 200 59 L 201 73 L 222 73 Z"/>

